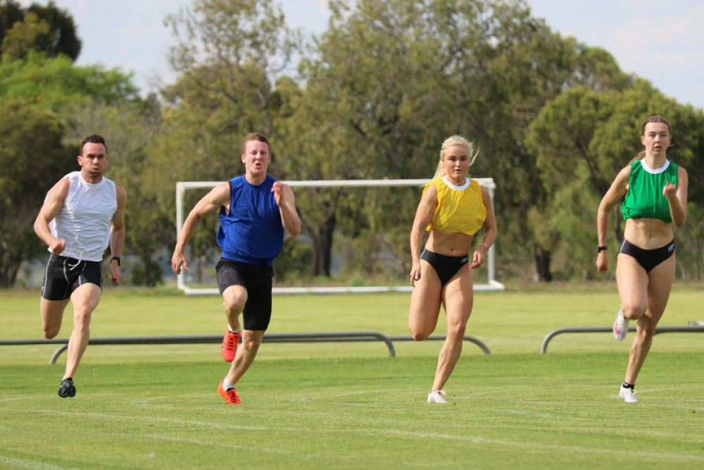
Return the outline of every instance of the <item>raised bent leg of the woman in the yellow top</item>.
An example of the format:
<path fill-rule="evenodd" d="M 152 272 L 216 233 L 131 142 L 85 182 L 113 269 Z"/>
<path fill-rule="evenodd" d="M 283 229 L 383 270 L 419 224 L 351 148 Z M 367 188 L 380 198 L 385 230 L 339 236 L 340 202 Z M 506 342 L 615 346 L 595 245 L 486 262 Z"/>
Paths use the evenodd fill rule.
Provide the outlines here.
<path fill-rule="evenodd" d="M 434 268 L 425 260 L 420 260 L 421 277 L 415 281 L 410 294 L 408 329 L 416 341 L 425 340 L 438 323 L 440 314 L 442 285 Z"/>

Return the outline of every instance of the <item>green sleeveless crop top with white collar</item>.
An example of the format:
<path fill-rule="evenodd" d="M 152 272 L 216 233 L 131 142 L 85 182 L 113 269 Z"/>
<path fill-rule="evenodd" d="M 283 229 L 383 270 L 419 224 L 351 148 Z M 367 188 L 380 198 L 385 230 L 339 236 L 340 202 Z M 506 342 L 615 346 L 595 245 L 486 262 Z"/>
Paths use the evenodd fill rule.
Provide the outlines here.
<path fill-rule="evenodd" d="M 679 165 L 670 160 L 657 170 L 648 167 L 645 159 L 631 163 L 628 194 L 621 203 L 623 220 L 659 218 L 665 223 L 672 223 L 670 204 L 667 197 L 662 195 L 662 188 L 668 181 L 677 185 L 677 168 Z"/>

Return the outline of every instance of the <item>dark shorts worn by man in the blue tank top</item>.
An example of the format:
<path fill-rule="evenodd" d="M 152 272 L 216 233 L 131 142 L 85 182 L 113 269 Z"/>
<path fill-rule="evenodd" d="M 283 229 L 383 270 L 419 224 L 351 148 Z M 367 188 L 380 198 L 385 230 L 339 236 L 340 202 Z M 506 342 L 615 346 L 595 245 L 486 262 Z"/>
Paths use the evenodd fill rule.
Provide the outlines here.
<path fill-rule="evenodd" d="M 265 331 L 271 321 L 271 288 L 274 269 L 268 265 L 247 264 L 220 258 L 215 266 L 220 294 L 231 285 L 241 285 L 247 290 L 242 319 L 244 329 Z"/>

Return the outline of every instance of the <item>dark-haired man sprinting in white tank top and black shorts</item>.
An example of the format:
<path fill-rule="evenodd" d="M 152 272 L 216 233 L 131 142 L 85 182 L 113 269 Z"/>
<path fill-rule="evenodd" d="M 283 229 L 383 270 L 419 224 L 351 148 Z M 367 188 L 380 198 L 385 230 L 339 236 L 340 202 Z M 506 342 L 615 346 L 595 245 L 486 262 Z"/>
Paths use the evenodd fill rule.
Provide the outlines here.
<path fill-rule="evenodd" d="M 110 276 L 118 284 L 125 245 L 127 194 L 103 177 L 108 166 L 103 137 L 94 134 L 84 139 L 78 164 L 80 171 L 65 175 L 49 190 L 34 221 L 34 232 L 50 253 L 42 285 L 45 338 L 58 335 L 63 311 L 69 301 L 73 303 L 73 332 L 58 389 L 58 396 L 64 398 L 76 394 L 73 377 L 88 345 L 90 319 L 102 292 L 103 253 L 109 244 Z"/>

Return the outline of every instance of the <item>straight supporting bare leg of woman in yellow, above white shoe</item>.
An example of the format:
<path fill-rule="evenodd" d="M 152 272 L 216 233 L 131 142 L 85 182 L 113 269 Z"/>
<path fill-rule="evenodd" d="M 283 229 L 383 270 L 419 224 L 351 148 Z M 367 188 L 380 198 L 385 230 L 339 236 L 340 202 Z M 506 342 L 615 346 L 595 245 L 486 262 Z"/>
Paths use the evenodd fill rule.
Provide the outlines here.
<path fill-rule="evenodd" d="M 460 359 L 465 329 L 472 314 L 473 302 L 472 271 L 467 264 L 460 268 L 460 271 L 445 285 L 443 290 L 447 337 L 438 357 L 432 391 L 441 390 L 445 386 L 450 374 L 455 369 L 455 364 Z"/>

